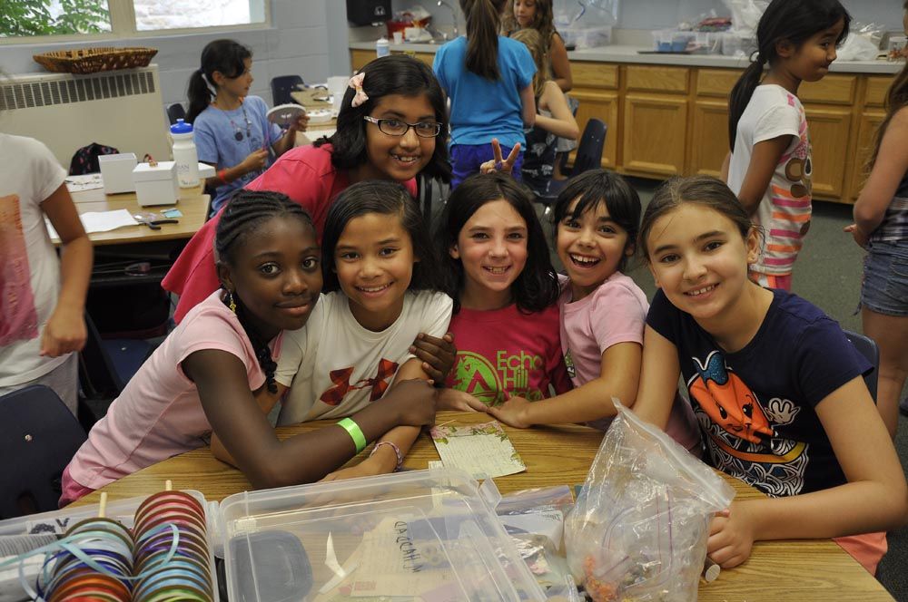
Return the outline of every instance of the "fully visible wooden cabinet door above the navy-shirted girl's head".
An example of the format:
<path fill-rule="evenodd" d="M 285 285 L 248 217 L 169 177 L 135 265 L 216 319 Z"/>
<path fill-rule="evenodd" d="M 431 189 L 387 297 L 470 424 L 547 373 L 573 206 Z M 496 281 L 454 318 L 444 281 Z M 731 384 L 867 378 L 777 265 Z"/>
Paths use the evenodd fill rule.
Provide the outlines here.
<path fill-rule="evenodd" d="M 684 170 L 684 96 L 627 94 L 623 127 L 622 165 L 628 173 L 675 176 Z"/>

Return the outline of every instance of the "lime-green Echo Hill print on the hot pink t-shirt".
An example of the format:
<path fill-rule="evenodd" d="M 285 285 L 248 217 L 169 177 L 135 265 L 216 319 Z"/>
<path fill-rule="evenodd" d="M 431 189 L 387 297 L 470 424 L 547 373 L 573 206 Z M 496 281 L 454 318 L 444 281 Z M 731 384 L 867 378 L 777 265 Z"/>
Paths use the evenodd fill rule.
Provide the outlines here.
<path fill-rule="evenodd" d="M 507 399 L 505 392 L 531 402 L 545 397 L 531 387 L 530 373 L 545 369 L 545 360 L 524 351 L 510 354 L 499 350 L 493 364 L 489 358 L 472 351 L 458 351 L 451 387 L 469 393 L 486 405 L 498 405 Z"/>

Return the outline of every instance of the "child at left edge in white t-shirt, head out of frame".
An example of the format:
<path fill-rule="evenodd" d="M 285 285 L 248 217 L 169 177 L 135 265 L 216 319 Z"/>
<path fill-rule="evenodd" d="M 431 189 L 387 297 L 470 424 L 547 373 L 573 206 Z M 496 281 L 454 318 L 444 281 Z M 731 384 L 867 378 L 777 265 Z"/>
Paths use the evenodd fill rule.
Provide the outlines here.
<path fill-rule="evenodd" d="M 65 178 L 43 143 L 0 133 L 0 395 L 44 384 L 75 413 L 92 243 Z"/>

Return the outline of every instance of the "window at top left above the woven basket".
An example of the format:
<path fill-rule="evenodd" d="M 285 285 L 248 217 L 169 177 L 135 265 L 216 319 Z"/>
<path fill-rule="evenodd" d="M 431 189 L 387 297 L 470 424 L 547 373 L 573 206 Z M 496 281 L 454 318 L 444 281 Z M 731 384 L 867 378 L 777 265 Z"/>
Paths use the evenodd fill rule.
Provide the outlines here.
<path fill-rule="evenodd" d="M 266 21 L 266 0 L 3 0 L 0 38 L 133 37 Z"/>

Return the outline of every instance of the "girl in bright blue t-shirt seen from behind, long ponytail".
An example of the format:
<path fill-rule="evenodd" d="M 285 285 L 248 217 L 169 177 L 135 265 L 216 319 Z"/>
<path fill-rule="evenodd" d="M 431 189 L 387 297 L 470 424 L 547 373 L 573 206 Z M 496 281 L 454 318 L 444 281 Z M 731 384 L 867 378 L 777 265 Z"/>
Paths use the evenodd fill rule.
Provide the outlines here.
<path fill-rule="evenodd" d="M 492 139 L 519 180 L 523 131 L 536 120 L 536 65 L 526 46 L 498 35 L 504 5 L 505 0 L 460 0 L 467 37 L 435 54 L 432 68 L 451 102 L 452 187 L 496 158 Z"/>

